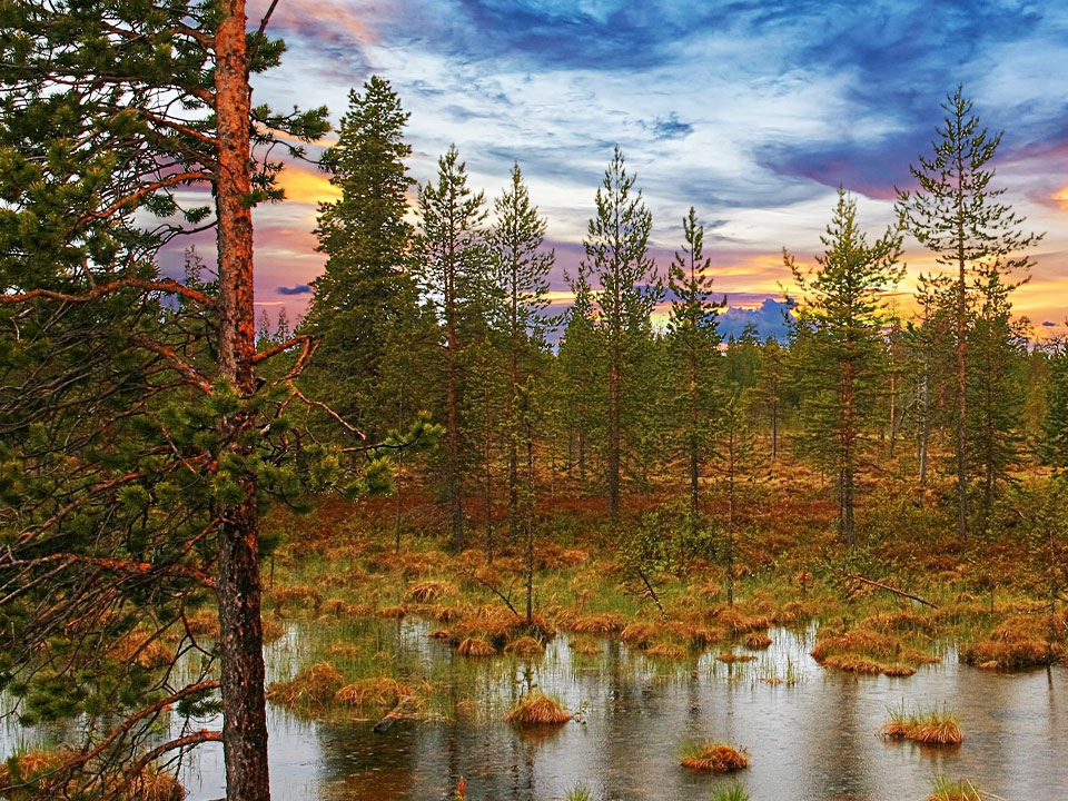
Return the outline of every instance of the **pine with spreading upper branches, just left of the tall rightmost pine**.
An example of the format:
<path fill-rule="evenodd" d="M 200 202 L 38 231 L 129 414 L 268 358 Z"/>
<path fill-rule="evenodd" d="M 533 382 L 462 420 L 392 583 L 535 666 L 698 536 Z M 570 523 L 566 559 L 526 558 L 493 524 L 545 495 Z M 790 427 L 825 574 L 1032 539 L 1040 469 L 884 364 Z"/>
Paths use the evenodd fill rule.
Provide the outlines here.
<path fill-rule="evenodd" d="M 829 448 L 838 474 L 839 528 L 853 545 L 856 475 L 878 399 L 881 329 L 888 323 L 882 293 L 902 275 L 901 238 L 888 229 L 869 246 L 857 228 L 856 201 L 840 189 L 821 240 L 827 250 L 810 271 L 783 253 L 803 297 L 795 326 L 809 345 L 797 374 L 805 388 L 805 436 Z"/>

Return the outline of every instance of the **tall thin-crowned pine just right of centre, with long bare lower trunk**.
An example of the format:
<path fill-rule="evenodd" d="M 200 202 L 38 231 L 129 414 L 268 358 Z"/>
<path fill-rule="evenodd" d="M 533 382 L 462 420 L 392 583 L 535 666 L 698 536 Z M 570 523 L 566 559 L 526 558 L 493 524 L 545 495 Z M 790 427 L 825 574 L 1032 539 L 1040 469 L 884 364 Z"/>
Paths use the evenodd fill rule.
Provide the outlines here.
<path fill-rule="evenodd" d="M 656 264 L 649 256 L 653 216 L 642 192 L 634 189 L 623 152 L 616 146 L 612 161 L 597 188 L 596 216 L 590 220 L 583 247 L 584 275 L 596 279 L 592 293 L 597 327 L 607 357 L 607 438 L 605 472 L 609 510 L 620 518 L 620 473 L 623 448 L 624 406 L 633 386 L 635 347 L 650 335 L 650 316 L 663 296 Z"/>

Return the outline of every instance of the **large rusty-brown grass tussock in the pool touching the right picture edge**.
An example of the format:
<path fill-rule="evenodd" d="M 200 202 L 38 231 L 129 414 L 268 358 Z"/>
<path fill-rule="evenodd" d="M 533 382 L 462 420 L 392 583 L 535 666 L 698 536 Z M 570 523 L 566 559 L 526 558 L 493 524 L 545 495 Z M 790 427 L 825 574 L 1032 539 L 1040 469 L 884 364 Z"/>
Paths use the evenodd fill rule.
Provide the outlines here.
<path fill-rule="evenodd" d="M 1015 615 L 997 626 L 986 640 L 961 650 L 961 659 L 983 669 L 1036 668 L 1068 662 L 1068 617 Z"/>

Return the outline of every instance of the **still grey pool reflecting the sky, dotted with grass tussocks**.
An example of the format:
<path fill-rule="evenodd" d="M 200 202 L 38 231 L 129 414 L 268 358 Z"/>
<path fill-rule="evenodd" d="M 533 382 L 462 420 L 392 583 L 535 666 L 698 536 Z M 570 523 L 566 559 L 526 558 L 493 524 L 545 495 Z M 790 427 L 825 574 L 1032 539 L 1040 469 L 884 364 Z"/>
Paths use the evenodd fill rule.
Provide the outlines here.
<path fill-rule="evenodd" d="M 427 639 L 422 622 L 385 625 L 427 670 L 455 668 L 457 686 L 471 682 L 471 662 Z M 563 799 L 576 784 L 619 801 L 706 799 L 734 780 L 690 772 L 676 754 L 684 739 L 714 738 L 748 749 L 751 767 L 736 775 L 754 801 L 919 801 L 934 774 L 966 777 L 1011 801 L 1068 800 L 1064 668 L 980 671 L 949 650 L 941 664 L 908 679 L 857 679 L 815 664 L 811 631 L 771 636 L 758 661 L 728 666 L 713 654 L 656 664 L 607 642 L 600 656 L 577 656 L 561 635 L 544 659 L 479 663 L 477 692 L 492 712 L 400 722 L 385 735 L 369 722 L 307 722 L 271 708 L 271 795 L 434 801 L 448 798 L 463 775 L 471 801 Z M 291 627 L 267 656 L 271 679 L 291 676 L 301 630 Z M 764 681 L 775 679 L 782 683 Z M 501 722 L 524 682 L 583 709 L 584 722 L 550 732 Z M 887 709 L 902 700 L 956 710 L 963 744 L 882 741 Z M 192 801 L 222 795 L 221 755 L 219 746 L 201 749 L 184 770 Z"/>

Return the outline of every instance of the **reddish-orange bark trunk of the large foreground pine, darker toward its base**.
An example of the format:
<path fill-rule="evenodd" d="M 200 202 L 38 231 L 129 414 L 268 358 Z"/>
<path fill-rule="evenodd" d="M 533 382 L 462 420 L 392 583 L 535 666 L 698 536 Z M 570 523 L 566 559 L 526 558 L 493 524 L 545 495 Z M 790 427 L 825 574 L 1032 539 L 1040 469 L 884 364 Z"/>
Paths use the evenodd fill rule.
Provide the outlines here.
<path fill-rule="evenodd" d="M 237 392 L 256 392 L 253 357 L 253 217 L 244 0 L 226 0 L 216 33 L 216 115 L 219 165 L 218 211 L 219 367 Z M 220 434 L 241 455 L 238 435 L 248 426 L 244 412 L 228 415 Z M 222 510 L 219 532 L 220 684 L 226 788 L 230 801 L 268 801 L 267 702 L 264 691 L 264 633 L 260 619 L 259 520 L 256 479 L 241 482 L 244 498 Z"/>

